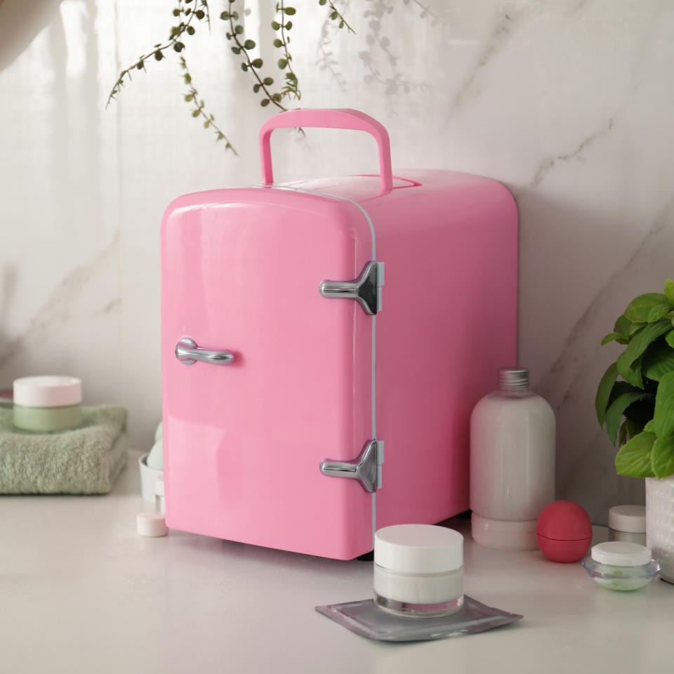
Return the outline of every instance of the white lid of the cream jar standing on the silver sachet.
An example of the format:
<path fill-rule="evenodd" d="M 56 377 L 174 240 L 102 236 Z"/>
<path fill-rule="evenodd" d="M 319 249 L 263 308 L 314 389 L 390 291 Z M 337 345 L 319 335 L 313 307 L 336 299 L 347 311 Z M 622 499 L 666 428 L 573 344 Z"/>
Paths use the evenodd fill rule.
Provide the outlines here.
<path fill-rule="evenodd" d="M 402 574 L 442 574 L 463 567 L 463 536 L 434 524 L 395 524 L 374 535 L 374 563 Z"/>

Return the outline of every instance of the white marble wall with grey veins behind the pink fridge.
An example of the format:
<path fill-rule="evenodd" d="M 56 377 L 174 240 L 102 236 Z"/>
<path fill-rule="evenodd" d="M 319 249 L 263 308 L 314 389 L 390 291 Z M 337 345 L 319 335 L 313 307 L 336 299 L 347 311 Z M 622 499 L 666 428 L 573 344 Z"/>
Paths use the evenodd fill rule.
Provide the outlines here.
<path fill-rule="evenodd" d="M 274 3 L 245 4 L 248 37 L 275 60 Z M 224 3 L 211 5 L 217 15 Z M 394 166 L 479 173 L 513 191 L 520 364 L 557 412 L 557 495 L 595 522 L 642 503 L 642 481 L 614 475 L 593 399 L 615 356 L 600 338 L 632 296 L 674 274 L 674 4 L 342 2 L 356 34 L 326 25 L 317 1 L 296 6 L 303 107 L 369 112 L 390 131 Z M 0 3 L 0 388 L 81 376 L 86 402 L 128 407 L 139 448 L 160 415 L 161 213 L 184 192 L 258 182 L 257 131 L 272 112 L 219 20 L 187 55 L 240 159 L 190 117 L 172 56 L 105 109 L 121 67 L 165 39 L 172 7 Z M 275 135 L 277 178 L 376 166 L 374 144 L 354 136 Z M 484 329 L 498 339 L 497 325 Z"/>

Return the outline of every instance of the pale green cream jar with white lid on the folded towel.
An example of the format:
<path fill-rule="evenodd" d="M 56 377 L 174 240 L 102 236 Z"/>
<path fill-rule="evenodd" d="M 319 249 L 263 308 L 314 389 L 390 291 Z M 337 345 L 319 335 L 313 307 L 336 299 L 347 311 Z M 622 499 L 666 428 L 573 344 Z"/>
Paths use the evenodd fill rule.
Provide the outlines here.
<path fill-rule="evenodd" d="M 46 433 L 82 422 L 82 383 L 77 377 L 22 377 L 14 380 L 14 425 Z"/>

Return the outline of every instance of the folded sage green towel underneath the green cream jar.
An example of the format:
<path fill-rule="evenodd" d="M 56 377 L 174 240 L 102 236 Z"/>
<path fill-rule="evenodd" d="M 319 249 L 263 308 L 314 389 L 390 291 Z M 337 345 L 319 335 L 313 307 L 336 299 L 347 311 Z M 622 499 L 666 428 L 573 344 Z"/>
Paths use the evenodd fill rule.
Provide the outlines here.
<path fill-rule="evenodd" d="M 0 494 L 107 494 L 126 465 L 126 409 L 83 407 L 79 428 L 31 433 L 0 409 Z"/>

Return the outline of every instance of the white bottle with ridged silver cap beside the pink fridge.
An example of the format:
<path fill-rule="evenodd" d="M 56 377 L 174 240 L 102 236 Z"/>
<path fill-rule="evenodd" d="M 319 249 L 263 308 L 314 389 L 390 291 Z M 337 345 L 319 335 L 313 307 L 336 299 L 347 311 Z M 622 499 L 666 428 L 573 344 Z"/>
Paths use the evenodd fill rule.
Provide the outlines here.
<path fill-rule="evenodd" d="M 470 417 L 470 508 L 476 543 L 535 550 L 536 520 L 555 500 L 555 413 L 529 370 L 498 370 L 498 390 Z"/>

